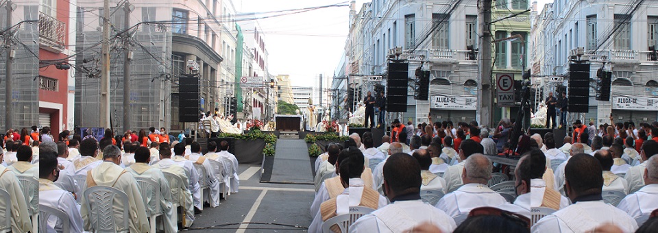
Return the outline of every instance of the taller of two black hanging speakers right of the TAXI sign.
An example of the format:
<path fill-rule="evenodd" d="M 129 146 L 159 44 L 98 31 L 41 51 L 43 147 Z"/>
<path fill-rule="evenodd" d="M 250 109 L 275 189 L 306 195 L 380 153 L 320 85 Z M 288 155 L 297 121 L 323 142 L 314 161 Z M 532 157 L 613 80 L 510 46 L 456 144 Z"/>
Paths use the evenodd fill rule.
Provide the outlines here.
<path fill-rule="evenodd" d="M 569 112 L 589 112 L 589 64 L 569 66 Z"/>

